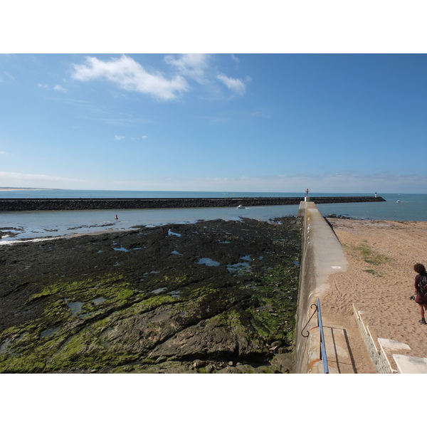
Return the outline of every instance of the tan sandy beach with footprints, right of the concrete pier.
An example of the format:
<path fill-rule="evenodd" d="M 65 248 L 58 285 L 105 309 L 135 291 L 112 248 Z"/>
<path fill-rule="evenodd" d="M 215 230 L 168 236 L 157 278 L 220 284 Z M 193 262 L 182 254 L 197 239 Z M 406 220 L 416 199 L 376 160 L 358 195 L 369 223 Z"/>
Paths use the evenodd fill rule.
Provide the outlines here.
<path fill-rule="evenodd" d="M 413 294 L 414 263 L 427 264 L 427 222 L 329 218 L 349 262 L 334 273 L 321 296 L 325 323 L 349 334 L 357 372 L 374 373 L 354 316 L 355 303 L 367 312 L 372 337 L 408 344 L 408 356 L 427 357 L 427 326 L 420 325 Z"/>

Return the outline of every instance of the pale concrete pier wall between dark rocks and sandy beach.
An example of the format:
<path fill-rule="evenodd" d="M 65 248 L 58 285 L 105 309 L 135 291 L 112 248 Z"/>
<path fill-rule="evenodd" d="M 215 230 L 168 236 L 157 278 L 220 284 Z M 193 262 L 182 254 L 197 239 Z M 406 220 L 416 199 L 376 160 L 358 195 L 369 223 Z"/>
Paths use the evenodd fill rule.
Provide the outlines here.
<path fill-rule="evenodd" d="M 295 373 L 320 374 L 323 372 L 320 330 L 312 304 L 319 297 L 322 307 L 321 294 L 327 287 L 327 278 L 337 271 L 345 271 L 347 260 L 341 243 L 315 203 L 301 202 L 298 215 L 304 218 L 304 227 L 295 332 Z"/>

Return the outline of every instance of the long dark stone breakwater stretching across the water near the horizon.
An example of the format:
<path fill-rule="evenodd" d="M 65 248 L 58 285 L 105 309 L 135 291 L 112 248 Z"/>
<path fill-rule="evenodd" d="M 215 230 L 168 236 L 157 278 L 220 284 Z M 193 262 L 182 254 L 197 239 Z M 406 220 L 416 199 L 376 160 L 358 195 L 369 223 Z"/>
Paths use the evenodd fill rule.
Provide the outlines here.
<path fill-rule="evenodd" d="M 215 208 L 299 205 L 304 197 L 239 197 L 194 199 L 0 199 L 0 211 L 78 211 L 92 209 Z M 382 197 L 310 197 L 315 204 L 385 201 Z"/>

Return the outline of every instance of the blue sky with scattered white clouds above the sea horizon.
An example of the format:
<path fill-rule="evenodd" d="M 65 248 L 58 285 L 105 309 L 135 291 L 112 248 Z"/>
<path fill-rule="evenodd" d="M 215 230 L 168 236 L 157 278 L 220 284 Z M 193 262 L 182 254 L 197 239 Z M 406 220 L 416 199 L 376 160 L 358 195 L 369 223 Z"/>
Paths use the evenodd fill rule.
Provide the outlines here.
<path fill-rule="evenodd" d="M 426 54 L 0 55 L 0 186 L 426 193 Z"/>

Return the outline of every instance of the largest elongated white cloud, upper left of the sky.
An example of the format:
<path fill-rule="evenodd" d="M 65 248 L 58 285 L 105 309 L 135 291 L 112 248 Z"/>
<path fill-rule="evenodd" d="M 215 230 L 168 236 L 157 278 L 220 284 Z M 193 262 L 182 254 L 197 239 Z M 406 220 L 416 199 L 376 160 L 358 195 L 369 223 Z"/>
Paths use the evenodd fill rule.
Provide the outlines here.
<path fill-rule="evenodd" d="M 124 90 L 145 93 L 160 100 L 173 100 L 188 90 L 181 75 L 169 80 L 161 73 L 148 73 L 142 65 L 125 55 L 110 61 L 88 56 L 85 65 L 74 65 L 73 78 L 82 81 L 105 78 Z"/>

